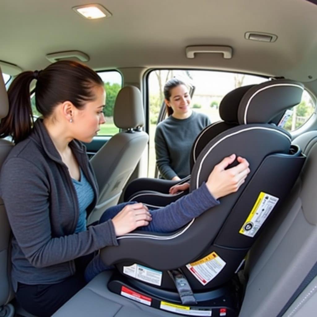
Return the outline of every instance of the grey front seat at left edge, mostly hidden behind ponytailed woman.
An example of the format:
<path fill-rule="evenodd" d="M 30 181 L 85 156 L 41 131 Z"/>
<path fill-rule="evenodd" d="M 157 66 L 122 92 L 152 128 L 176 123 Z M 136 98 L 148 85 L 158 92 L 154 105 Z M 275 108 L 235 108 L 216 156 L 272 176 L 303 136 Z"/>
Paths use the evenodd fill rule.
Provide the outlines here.
<path fill-rule="evenodd" d="M 9 110 L 8 95 L 0 69 L 0 118 L 4 118 Z M 0 168 L 12 149 L 13 143 L 0 139 Z M 3 200 L 0 198 L 0 307 L 13 298 L 10 278 L 10 234 L 11 229 Z"/>

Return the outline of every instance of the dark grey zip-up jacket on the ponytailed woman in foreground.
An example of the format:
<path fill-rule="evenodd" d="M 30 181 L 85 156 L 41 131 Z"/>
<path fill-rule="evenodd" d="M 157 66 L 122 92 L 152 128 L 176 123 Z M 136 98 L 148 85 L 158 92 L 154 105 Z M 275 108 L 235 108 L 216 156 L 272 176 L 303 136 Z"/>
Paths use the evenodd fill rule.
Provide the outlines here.
<path fill-rule="evenodd" d="M 69 143 L 94 190 L 98 188 L 85 147 Z M 0 173 L 0 196 L 13 231 L 12 282 L 53 284 L 75 273 L 74 259 L 108 245 L 118 245 L 112 221 L 74 234 L 79 207 L 67 166 L 61 161 L 42 121 L 13 147 Z"/>

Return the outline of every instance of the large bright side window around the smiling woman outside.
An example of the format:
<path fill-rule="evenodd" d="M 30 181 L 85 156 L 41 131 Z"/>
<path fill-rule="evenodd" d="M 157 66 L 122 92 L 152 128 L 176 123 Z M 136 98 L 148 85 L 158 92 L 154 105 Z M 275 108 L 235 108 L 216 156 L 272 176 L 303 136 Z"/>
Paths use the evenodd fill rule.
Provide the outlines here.
<path fill-rule="evenodd" d="M 154 136 L 160 110 L 164 107 L 163 88 L 165 83 L 173 77 L 186 83 L 190 94 L 193 91 L 189 107 L 195 113 L 206 115 L 212 123 L 221 120 L 219 104 L 227 93 L 237 87 L 259 84 L 268 80 L 255 75 L 208 70 L 156 69 L 151 71 L 148 75 L 150 136 L 148 177 L 157 177 Z M 166 152 L 168 153 L 169 150 Z M 171 149 L 170 152 L 176 151 Z M 172 156 L 175 158 L 175 153 L 167 160 L 171 162 Z M 171 165 L 173 165 L 172 162 Z"/>

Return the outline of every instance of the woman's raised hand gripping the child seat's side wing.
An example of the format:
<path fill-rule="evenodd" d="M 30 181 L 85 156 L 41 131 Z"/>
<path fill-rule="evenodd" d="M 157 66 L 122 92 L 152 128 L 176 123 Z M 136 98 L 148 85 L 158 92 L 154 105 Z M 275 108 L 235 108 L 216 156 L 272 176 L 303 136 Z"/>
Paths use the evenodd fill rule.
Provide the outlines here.
<path fill-rule="evenodd" d="M 206 185 L 215 199 L 236 192 L 248 176 L 250 172 L 249 162 L 241 156 L 237 157 L 240 164 L 225 170 L 235 159 L 236 154 L 232 154 L 215 165 L 211 171 Z"/>

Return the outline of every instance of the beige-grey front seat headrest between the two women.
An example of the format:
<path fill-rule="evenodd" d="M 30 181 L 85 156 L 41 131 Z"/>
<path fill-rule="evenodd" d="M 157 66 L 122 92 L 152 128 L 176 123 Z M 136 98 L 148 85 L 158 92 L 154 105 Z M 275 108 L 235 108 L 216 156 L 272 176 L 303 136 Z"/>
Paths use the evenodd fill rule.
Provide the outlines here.
<path fill-rule="evenodd" d="M 116 98 L 113 111 L 114 124 L 121 129 L 144 126 L 141 92 L 137 87 L 123 87 Z"/>

